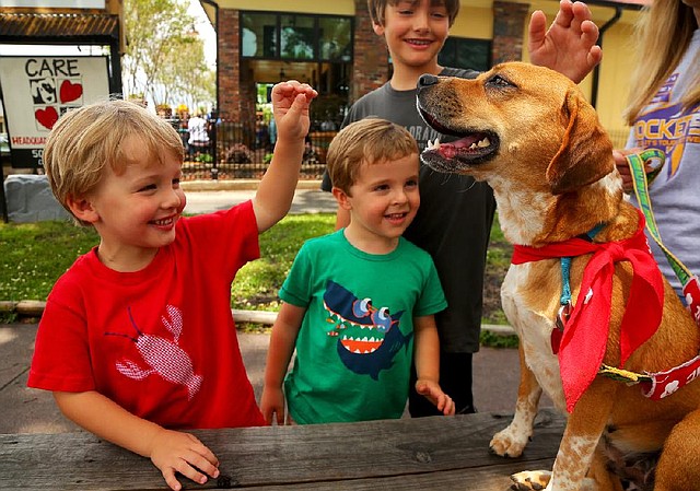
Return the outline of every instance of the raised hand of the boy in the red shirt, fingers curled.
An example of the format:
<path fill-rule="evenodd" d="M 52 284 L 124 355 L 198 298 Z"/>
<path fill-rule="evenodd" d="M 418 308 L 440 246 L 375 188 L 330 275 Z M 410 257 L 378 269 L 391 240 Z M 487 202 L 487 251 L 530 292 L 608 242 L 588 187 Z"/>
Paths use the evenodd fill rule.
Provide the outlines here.
<path fill-rule="evenodd" d="M 308 106 L 318 93 L 308 84 L 295 80 L 272 87 L 272 112 L 279 140 L 303 140 L 311 120 Z"/>

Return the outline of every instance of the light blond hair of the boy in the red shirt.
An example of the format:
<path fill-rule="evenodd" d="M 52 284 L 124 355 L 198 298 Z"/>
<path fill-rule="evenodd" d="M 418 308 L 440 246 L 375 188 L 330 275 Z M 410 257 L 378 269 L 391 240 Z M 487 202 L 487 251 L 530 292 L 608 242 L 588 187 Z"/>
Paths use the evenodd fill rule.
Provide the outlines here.
<path fill-rule="evenodd" d="M 132 102 L 100 102 L 70 110 L 58 120 L 46 140 L 44 168 L 63 208 L 70 212 L 68 198 L 85 198 L 93 192 L 107 166 L 120 175 L 133 163 L 122 148 L 131 137 L 138 138 L 147 149 L 150 162 L 162 164 L 165 152 L 180 162 L 184 160 L 183 141 L 177 131 Z"/>

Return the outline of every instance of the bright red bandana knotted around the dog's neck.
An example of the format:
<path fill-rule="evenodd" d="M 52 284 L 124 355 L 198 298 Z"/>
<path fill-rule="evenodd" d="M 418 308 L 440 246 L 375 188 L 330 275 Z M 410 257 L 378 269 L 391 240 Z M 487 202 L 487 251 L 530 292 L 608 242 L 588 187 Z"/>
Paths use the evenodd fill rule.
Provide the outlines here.
<path fill-rule="evenodd" d="M 649 249 L 641 212 L 635 234 L 625 241 L 595 244 L 582 238 L 570 238 L 544 247 L 516 245 L 511 262 L 521 265 L 591 253 L 593 256 L 583 271 L 578 304 L 564 325 L 558 353 L 569 412 L 591 385 L 603 363 L 610 325 L 615 262 L 630 261 L 634 271 L 620 326 L 620 366 L 656 331 L 664 307 L 664 283 Z"/>

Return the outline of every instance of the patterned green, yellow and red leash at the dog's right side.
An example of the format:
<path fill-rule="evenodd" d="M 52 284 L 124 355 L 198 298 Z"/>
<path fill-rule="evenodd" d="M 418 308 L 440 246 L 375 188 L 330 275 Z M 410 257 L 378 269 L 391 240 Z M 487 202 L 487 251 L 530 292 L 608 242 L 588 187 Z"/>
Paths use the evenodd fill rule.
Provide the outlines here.
<path fill-rule="evenodd" d="M 682 284 L 682 293 L 686 297 L 686 303 L 688 304 L 690 314 L 700 328 L 700 284 L 698 282 L 698 277 L 692 274 L 688 268 L 663 244 L 661 234 L 656 226 L 656 221 L 654 220 L 654 212 L 652 210 L 651 198 L 649 196 L 649 183 L 651 183 L 661 171 L 666 155 L 657 149 L 648 149 L 640 153 L 626 155 L 626 159 L 630 166 L 632 186 L 634 188 L 637 202 L 646 219 L 646 230 L 654 242 L 658 244 L 658 247 L 661 247 L 662 252 L 668 259 L 668 264 L 678 277 L 678 280 L 680 280 L 680 283 Z M 651 160 L 660 161 L 661 164 L 656 165 L 648 175 L 644 171 L 644 166 Z M 672 395 L 680 387 L 700 376 L 700 354 L 686 363 L 664 372 L 646 372 L 642 375 L 604 364 L 600 367 L 599 373 L 629 384 L 640 384 L 642 386 L 642 394 L 645 397 L 653 400 L 660 400 Z"/>

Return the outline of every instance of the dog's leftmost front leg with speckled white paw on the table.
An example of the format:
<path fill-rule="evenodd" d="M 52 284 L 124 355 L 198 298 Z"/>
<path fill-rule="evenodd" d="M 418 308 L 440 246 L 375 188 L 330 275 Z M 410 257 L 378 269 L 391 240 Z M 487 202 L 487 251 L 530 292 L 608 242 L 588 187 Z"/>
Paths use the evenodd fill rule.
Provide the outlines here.
<path fill-rule="evenodd" d="M 520 457 L 533 435 L 533 423 L 542 389 L 535 374 L 525 363 L 522 342 L 517 349 L 521 358 L 521 379 L 517 387 L 517 402 L 513 421 L 491 439 L 491 452 L 502 457 Z"/>

